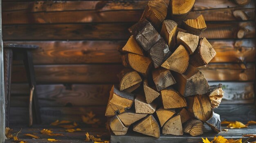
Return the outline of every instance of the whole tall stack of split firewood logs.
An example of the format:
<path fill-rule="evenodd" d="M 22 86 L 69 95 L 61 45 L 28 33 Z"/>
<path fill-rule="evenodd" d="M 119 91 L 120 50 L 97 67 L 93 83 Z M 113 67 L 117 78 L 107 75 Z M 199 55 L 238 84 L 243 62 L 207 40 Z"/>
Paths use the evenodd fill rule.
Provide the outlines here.
<path fill-rule="evenodd" d="M 119 51 L 126 67 L 110 91 L 106 116 L 115 135 L 135 132 L 197 136 L 203 126 L 220 132 L 213 112 L 223 97 L 220 85 L 209 86 L 197 69 L 216 55 L 205 37 L 204 17 L 188 19 L 195 0 L 151 0 Z M 187 19 L 187 20 L 186 20 Z"/>

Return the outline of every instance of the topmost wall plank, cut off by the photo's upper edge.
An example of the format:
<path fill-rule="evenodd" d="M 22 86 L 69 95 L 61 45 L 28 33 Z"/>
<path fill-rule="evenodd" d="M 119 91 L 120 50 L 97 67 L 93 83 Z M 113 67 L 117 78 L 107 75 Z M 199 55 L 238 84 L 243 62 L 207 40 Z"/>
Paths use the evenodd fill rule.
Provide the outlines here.
<path fill-rule="evenodd" d="M 29 12 L 49 12 L 49 11 L 75 11 L 75 10 L 144 10 L 148 0 L 122 0 L 112 1 L 36 1 L 33 0 L 3 0 L 2 11 L 21 11 Z M 17 0 L 16 0 L 17 1 Z M 27 1 L 27 2 L 22 2 Z M 29 2 L 31 1 L 31 2 Z M 166 4 L 169 0 L 164 0 Z M 193 10 L 216 9 L 216 8 L 233 8 L 239 7 L 231 0 L 196 0 Z M 246 5 L 246 8 L 253 8 L 254 1 Z"/>

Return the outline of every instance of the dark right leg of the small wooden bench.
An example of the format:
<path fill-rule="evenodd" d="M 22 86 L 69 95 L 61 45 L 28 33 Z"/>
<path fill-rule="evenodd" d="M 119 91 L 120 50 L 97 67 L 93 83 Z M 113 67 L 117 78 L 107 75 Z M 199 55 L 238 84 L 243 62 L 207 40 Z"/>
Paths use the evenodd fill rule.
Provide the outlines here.
<path fill-rule="evenodd" d="M 32 59 L 32 54 L 30 51 L 24 52 L 24 59 L 23 59 L 26 73 L 27 73 L 27 79 L 29 82 L 29 88 L 32 89 L 34 86 L 34 93 L 33 93 L 33 110 L 34 115 L 36 117 L 36 123 L 41 123 L 41 117 L 40 117 L 40 110 L 39 110 L 39 104 L 38 104 L 38 96 L 37 96 L 37 90 L 36 90 L 36 77 L 35 77 L 35 71 L 34 71 L 34 64 Z"/>

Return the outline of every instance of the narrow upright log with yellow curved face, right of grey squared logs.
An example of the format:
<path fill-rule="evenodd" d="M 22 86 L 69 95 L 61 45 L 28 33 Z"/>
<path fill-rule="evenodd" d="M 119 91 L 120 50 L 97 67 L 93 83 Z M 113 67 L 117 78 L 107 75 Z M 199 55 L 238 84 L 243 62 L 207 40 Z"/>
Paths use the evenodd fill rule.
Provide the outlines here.
<path fill-rule="evenodd" d="M 174 22 L 173 20 L 164 20 L 160 35 L 167 42 L 170 50 L 172 50 L 175 46 L 176 31 L 177 31 L 176 22 Z"/>

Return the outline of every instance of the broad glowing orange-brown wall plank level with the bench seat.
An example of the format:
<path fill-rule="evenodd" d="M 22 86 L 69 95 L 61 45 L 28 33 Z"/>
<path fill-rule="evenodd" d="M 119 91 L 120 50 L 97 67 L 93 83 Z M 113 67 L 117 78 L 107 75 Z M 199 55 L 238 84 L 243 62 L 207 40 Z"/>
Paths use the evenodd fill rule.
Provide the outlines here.
<path fill-rule="evenodd" d="M 209 42 L 217 53 L 211 62 L 255 61 L 254 40 L 209 40 Z M 13 43 L 38 45 L 40 48 L 32 51 L 34 64 L 87 64 L 121 63 L 121 54 L 117 49 L 123 47 L 126 41 L 14 41 Z"/>

